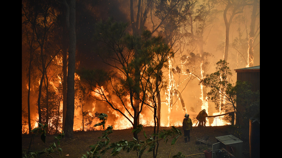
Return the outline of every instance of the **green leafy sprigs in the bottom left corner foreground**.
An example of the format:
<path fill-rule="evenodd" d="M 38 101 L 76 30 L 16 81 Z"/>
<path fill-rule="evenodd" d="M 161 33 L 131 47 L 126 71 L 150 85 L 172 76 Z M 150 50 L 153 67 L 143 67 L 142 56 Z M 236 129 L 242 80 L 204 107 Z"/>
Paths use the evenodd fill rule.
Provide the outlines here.
<path fill-rule="evenodd" d="M 38 123 L 39 127 L 34 128 L 33 130 L 31 130 L 31 132 L 33 132 L 34 134 L 40 134 L 40 138 L 41 140 L 45 143 L 46 141 L 46 128 L 47 128 L 47 124 L 45 124 L 43 126 L 43 124 Z M 24 151 L 22 153 L 22 158 L 34 158 L 37 157 L 37 155 L 41 155 L 41 154 L 47 154 L 48 156 L 52 157 L 52 153 L 60 153 L 62 152 L 62 149 L 57 147 L 60 145 L 60 139 L 62 139 L 64 137 L 64 132 L 62 131 L 61 134 L 59 134 L 59 136 L 55 136 L 55 140 L 57 140 L 57 145 L 56 143 L 52 143 L 51 145 L 49 145 L 48 148 L 43 149 L 43 151 Z"/>

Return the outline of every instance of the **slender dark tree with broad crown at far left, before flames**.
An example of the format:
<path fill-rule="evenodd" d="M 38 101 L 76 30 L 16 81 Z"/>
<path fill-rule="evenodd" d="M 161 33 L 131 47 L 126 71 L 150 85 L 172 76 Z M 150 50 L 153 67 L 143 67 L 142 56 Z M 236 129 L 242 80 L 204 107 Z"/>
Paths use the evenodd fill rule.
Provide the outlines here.
<path fill-rule="evenodd" d="M 37 100 L 39 123 L 42 123 L 41 118 L 41 92 L 45 74 L 52 63 L 52 60 L 58 54 L 57 51 L 48 51 L 51 42 L 54 40 L 52 32 L 54 31 L 54 24 L 56 23 L 56 13 L 52 8 L 52 1 L 29 1 L 24 4 L 26 8 L 25 17 L 31 25 L 36 41 L 39 46 L 39 53 L 37 55 L 38 68 L 41 72 L 41 79 L 39 85 L 39 94 Z M 27 15 L 29 14 L 29 15 Z M 51 47 L 52 48 L 52 47 Z"/>

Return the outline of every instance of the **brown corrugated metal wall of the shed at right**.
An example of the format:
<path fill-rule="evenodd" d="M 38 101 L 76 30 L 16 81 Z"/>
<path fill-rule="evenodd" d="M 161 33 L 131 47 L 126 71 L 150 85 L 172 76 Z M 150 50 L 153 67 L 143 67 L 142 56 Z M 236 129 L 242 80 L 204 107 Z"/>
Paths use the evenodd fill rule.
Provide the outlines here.
<path fill-rule="evenodd" d="M 239 81 L 248 81 L 251 83 L 251 90 L 253 92 L 260 91 L 260 70 L 245 70 L 245 71 L 236 71 L 237 72 L 237 80 Z M 255 101 L 256 98 L 250 98 L 251 101 Z M 248 105 L 247 105 L 248 106 Z M 243 113 L 246 110 L 246 105 L 241 104 L 240 100 L 237 100 L 237 110 Z M 254 116 L 256 111 L 249 112 L 249 116 Z M 249 125 L 249 122 L 243 122 L 243 118 L 240 116 L 236 116 L 236 124 L 241 126 Z"/>

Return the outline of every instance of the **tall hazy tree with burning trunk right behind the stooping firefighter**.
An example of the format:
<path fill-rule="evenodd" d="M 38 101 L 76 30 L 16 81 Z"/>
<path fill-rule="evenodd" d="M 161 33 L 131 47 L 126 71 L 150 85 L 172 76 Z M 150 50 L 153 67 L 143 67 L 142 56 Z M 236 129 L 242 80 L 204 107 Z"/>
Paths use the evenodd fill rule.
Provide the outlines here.
<path fill-rule="evenodd" d="M 196 51 L 198 53 L 190 53 L 192 55 L 189 63 L 198 63 L 199 65 L 190 65 L 190 67 L 199 67 L 199 69 L 195 69 L 193 71 L 193 76 L 196 76 L 197 79 L 203 79 L 205 77 L 205 72 L 208 70 L 209 67 L 209 59 L 211 58 L 212 54 L 205 51 L 205 43 L 209 38 L 209 32 L 213 29 L 214 22 L 217 20 L 219 11 L 216 9 L 217 3 L 216 1 L 205 1 L 203 0 L 201 3 L 191 9 L 189 16 L 189 20 L 187 23 L 187 28 L 185 31 L 188 34 L 188 38 L 190 38 L 189 45 L 194 45 Z M 190 51 L 193 51 L 194 48 Z M 195 62 L 195 59 L 199 60 L 199 62 Z M 195 75 L 197 74 L 197 75 Z M 203 86 L 201 88 L 201 101 L 202 101 L 202 108 L 208 108 L 208 103 L 206 100 L 206 89 Z M 207 109 L 207 111 L 209 111 Z"/>

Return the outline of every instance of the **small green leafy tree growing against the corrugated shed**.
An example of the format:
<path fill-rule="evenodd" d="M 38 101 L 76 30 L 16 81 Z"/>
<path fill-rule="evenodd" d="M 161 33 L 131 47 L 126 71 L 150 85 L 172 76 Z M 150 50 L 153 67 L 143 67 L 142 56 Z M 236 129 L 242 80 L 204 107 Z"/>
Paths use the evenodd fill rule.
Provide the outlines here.
<path fill-rule="evenodd" d="M 251 84 L 247 81 L 236 81 L 232 84 L 232 73 L 228 63 L 220 60 L 216 63 L 216 72 L 207 74 L 200 84 L 210 88 L 208 98 L 216 104 L 216 109 L 221 108 L 226 112 L 235 111 L 239 116 L 249 119 L 252 111 L 259 117 L 260 92 L 251 91 Z M 255 101 L 253 98 L 256 98 Z M 244 112 L 239 112 L 236 103 L 240 102 L 246 107 Z"/>

